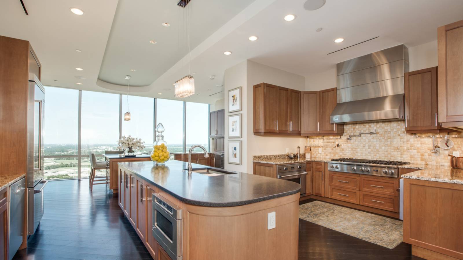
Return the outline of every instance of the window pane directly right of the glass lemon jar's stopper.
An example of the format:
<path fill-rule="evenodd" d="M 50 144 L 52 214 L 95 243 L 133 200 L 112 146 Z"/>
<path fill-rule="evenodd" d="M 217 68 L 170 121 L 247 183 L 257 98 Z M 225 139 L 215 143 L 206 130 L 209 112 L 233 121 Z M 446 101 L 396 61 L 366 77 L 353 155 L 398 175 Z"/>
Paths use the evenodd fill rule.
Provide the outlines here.
<path fill-rule="evenodd" d="M 182 101 L 156 99 L 156 124 L 162 123 L 164 126 L 163 136 L 168 145 L 170 159 L 173 159 L 173 153 L 183 152 L 184 149 L 183 105 Z"/>

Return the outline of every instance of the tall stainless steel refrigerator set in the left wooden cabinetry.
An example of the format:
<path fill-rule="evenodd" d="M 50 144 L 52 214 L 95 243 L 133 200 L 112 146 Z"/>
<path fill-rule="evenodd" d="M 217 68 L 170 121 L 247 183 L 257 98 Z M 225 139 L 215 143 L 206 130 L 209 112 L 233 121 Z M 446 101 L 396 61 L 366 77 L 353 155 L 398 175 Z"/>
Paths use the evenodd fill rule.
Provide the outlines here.
<path fill-rule="evenodd" d="M 29 74 L 27 101 L 27 233 L 34 234 L 44 215 L 44 108 L 45 89 Z"/>

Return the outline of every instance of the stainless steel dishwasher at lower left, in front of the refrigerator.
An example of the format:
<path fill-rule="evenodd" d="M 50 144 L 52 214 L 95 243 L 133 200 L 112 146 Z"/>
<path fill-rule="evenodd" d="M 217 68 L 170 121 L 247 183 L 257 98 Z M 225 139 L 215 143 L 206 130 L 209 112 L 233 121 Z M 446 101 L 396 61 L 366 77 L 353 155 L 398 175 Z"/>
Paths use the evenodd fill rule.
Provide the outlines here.
<path fill-rule="evenodd" d="M 10 185 L 10 260 L 18 251 L 23 242 L 24 234 L 24 203 L 25 203 L 26 179 L 23 178 Z"/>

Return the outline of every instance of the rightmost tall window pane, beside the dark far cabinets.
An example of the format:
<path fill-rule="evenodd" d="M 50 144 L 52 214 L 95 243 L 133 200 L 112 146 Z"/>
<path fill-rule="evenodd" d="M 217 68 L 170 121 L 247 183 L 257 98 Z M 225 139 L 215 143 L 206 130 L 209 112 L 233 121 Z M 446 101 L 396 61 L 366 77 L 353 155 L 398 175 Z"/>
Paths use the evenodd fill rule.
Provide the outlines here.
<path fill-rule="evenodd" d="M 209 105 L 186 102 L 186 150 L 200 144 L 209 151 Z M 196 148 L 195 151 L 201 151 Z"/>

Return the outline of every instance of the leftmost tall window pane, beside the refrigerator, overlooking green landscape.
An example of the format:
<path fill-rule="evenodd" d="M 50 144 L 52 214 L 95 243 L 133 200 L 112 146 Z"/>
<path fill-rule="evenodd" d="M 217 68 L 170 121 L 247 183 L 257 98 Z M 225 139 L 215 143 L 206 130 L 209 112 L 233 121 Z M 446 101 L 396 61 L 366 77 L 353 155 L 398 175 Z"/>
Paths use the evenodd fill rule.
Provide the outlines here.
<path fill-rule="evenodd" d="M 77 178 L 79 91 L 45 87 L 44 178 Z"/>

